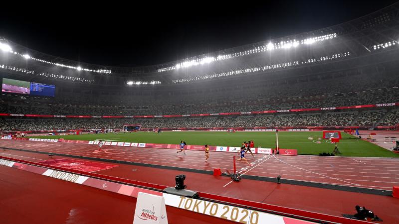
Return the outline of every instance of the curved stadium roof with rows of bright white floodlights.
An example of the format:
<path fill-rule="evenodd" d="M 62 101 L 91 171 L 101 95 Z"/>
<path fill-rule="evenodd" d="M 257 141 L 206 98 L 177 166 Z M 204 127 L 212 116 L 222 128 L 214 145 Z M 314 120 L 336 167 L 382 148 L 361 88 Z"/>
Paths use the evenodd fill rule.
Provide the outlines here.
<path fill-rule="evenodd" d="M 122 78 L 128 85 L 185 83 L 360 57 L 398 46 L 398 27 L 399 3 L 395 3 L 342 24 L 143 67 L 77 62 L 0 37 L 0 71 L 87 83 L 104 77 Z"/>

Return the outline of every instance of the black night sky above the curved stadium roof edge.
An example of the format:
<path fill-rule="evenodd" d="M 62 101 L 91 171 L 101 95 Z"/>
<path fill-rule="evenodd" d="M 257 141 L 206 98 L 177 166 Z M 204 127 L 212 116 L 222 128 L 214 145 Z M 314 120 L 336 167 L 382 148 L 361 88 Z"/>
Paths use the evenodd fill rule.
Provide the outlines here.
<path fill-rule="evenodd" d="M 335 25 L 395 0 L 60 2 L 1 9 L 0 36 L 81 62 L 145 66 Z"/>

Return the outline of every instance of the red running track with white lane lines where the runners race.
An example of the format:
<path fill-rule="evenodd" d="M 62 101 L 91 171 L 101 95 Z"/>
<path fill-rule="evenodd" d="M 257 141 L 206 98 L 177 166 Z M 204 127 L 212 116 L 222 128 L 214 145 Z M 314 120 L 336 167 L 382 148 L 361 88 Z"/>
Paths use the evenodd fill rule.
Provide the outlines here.
<path fill-rule="evenodd" d="M 169 167 L 191 168 L 196 170 L 232 170 L 234 153 L 210 152 L 208 162 L 204 152 L 186 151 L 186 155 L 172 149 L 137 148 L 123 146 L 103 146 L 99 152 L 96 145 L 76 143 L 30 142 L 21 140 L 0 140 L 1 147 L 26 149 L 31 151 L 68 154 L 101 159 L 112 159 Z M 256 154 L 246 155 L 253 166 L 237 161 L 237 171 L 242 175 L 325 183 L 341 186 L 392 190 L 399 185 L 399 158 L 367 157 L 321 157 L 321 156 L 282 156 Z M 230 184 L 225 183 L 226 187 Z"/>

